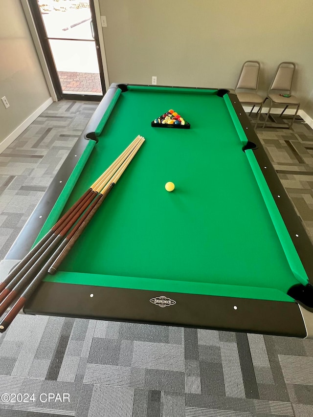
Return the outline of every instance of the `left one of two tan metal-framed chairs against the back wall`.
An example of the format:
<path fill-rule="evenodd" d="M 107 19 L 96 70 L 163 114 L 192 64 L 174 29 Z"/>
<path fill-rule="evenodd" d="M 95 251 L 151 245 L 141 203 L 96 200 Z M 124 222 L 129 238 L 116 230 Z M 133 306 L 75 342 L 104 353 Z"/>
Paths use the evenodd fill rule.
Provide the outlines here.
<path fill-rule="evenodd" d="M 258 117 L 254 128 L 257 127 L 259 122 L 264 101 L 263 98 L 258 94 L 260 67 L 261 65 L 258 61 L 246 61 L 241 68 L 239 80 L 235 88 L 240 103 L 253 106 L 249 116 L 251 115 L 252 110 L 256 105 L 260 106 L 259 110 L 257 111 Z M 238 89 L 248 91 L 238 92 Z"/>

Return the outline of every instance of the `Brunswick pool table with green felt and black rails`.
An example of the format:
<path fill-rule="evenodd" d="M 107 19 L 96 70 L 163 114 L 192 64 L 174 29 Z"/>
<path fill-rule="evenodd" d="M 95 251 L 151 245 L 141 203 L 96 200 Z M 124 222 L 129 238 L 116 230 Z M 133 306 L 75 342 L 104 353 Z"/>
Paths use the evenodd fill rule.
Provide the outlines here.
<path fill-rule="evenodd" d="M 169 109 L 190 129 L 153 128 Z M 312 242 L 226 89 L 113 84 L 5 261 L 138 134 L 134 160 L 24 312 L 312 337 Z"/>

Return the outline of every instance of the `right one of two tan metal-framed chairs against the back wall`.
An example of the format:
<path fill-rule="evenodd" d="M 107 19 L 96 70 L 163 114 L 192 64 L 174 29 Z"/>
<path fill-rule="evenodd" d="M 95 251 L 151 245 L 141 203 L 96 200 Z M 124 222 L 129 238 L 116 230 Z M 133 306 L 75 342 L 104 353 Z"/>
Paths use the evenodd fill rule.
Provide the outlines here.
<path fill-rule="evenodd" d="M 297 115 L 300 107 L 299 99 L 291 94 L 294 71 L 295 64 L 293 62 L 282 62 L 277 67 L 276 74 L 268 90 L 268 96 L 264 100 L 264 102 L 266 100 L 270 100 L 270 106 L 263 128 L 265 127 L 268 120 L 270 110 L 275 104 L 279 106 L 285 106 L 284 110 L 280 113 L 280 117 L 282 117 L 285 110 L 287 110 L 289 106 L 296 106 L 295 113 L 288 127 L 288 129 L 291 129 L 295 116 Z"/>

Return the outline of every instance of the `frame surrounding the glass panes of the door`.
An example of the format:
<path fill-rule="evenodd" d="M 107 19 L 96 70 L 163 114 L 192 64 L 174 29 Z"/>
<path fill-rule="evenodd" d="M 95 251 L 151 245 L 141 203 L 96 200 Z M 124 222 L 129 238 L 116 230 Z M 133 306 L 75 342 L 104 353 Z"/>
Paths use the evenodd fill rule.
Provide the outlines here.
<path fill-rule="evenodd" d="M 33 4 L 30 4 L 33 1 L 36 2 L 36 7 L 33 7 Z M 44 28 L 44 33 L 42 33 L 40 31 L 41 30 L 40 25 L 36 24 L 35 18 L 32 14 L 33 13 L 32 10 L 35 9 L 34 13 L 36 14 L 36 11 L 37 11 L 37 13 L 40 14 L 40 16 L 37 15 L 37 18 L 39 17 L 40 19 L 42 19 L 39 7 L 37 7 L 37 0 L 21 0 L 21 3 L 22 3 L 23 10 L 24 10 L 26 21 L 29 26 L 30 33 L 33 38 L 34 46 L 38 54 L 39 61 L 43 69 L 47 87 L 49 89 L 49 92 L 51 94 L 53 101 L 58 101 L 61 99 L 100 101 L 102 99 L 101 95 L 64 94 L 63 93 L 61 85 L 60 85 L 58 73 L 53 62 L 51 50 L 48 47 L 46 48 L 48 49 L 48 51 L 46 51 L 45 47 L 43 46 L 41 37 L 46 36 L 44 25 L 42 25 L 42 28 Z M 103 31 L 102 31 L 102 26 L 101 26 L 99 0 L 89 0 L 89 4 L 90 4 L 91 16 L 94 22 L 94 32 L 95 32 L 95 38 L 96 38 L 95 43 L 98 46 L 98 48 L 96 49 L 96 52 L 97 52 L 98 63 L 99 63 L 101 84 L 102 84 L 102 88 L 105 89 L 103 91 L 103 94 L 105 94 L 105 91 L 108 90 L 108 88 L 110 87 L 110 82 L 109 82 L 107 61 L 106 61 L 106 56 L 105 56 L 105 47 L 104 47 Z"/>

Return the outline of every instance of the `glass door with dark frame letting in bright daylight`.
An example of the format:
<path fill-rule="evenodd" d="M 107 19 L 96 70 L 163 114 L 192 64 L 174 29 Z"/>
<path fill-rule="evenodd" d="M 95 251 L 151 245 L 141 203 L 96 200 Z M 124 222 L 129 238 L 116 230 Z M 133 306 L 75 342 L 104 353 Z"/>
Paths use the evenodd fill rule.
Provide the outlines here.
<path fill-rule="evenodd" d="M 93 1 L 29 4 L 58 97 L 100 100 L 105 84 Z"/>

